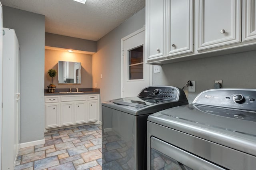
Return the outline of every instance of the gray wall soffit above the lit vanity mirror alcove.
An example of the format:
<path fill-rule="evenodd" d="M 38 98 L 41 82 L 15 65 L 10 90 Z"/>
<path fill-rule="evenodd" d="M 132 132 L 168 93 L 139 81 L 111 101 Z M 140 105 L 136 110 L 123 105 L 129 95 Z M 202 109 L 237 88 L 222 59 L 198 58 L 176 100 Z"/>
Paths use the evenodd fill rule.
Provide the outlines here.
<path fill-rule="evenodd" d="M 76 49 L 80 51 L 96 52 L 96 42 L 61 36 L 57 34 L 45 33 L 45 45 L 50 47 L 59 47 L 66 49 Z"/>

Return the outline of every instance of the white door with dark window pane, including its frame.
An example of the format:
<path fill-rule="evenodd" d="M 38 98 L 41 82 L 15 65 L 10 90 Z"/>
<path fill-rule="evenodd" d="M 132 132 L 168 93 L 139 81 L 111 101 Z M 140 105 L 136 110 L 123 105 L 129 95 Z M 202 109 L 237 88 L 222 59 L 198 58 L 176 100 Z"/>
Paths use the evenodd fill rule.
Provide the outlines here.
<path fill-rule="evenodd" d="M 151 65 L 145 64 L 145 28 L 122 38 L 121 97 L 137 96 L 151 85 Z"/>

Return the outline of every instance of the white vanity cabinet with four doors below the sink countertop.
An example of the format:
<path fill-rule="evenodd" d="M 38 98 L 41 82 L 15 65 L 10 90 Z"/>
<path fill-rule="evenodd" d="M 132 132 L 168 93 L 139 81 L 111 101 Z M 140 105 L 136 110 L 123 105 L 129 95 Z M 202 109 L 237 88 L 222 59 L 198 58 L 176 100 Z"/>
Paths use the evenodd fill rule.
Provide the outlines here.
<path fill-rule="evenodd" d="M 98 121 L 99 95 L 45 96 L 45 128 Z"/>

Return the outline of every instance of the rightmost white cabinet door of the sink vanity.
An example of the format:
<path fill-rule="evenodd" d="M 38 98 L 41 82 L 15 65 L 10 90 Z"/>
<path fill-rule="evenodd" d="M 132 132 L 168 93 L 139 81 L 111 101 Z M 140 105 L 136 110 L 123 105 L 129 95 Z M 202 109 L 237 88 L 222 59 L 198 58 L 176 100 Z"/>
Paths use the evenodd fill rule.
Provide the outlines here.
<path fill-rule="evenodd" d="M 98 120 L 98 100 L 87 102 L 87 122 L 93 122 Z"/>

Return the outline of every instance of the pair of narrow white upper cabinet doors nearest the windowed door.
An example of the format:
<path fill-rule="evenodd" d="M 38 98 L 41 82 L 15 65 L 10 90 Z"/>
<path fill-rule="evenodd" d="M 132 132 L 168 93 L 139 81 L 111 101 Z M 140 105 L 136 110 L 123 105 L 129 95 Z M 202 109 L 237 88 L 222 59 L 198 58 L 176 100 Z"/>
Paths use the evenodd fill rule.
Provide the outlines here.
<path fill-rule="evenodd" d="M 146 0 L 147 61 L 193 51 L 194 0 Z"/>

